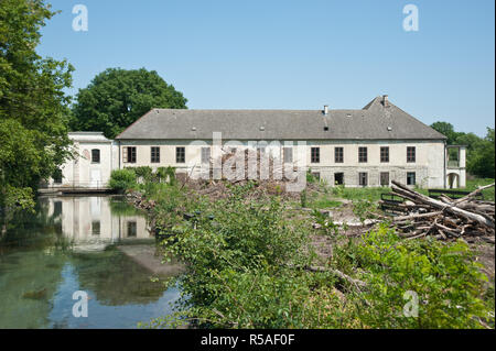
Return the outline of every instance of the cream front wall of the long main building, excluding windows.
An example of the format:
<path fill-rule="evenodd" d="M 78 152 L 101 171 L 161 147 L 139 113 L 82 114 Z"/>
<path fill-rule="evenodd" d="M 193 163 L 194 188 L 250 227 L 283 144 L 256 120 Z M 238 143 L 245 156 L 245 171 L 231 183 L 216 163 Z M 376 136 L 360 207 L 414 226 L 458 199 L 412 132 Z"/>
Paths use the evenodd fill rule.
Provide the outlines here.
<path fill-rule="evenodd" d="M 190 172 L 193 167 L 200 169 L 202 146 L 212 146 L 212 141 L 121 141 L 120 165 L 121 167 L 134 166 L 173 166 L 177 172 Z M 245 149 L 254 146 L 252 143 L 244 141 L 224 141 L 223 150 L 229 147 Z M 268 153 L 281 156 L 281 144 L 279 142 L 260 143 Z M 334 184 L 334 174 L 344 173 L 346 186 L 359 186 L 358 173 L 368 175 L 368 186 L 379 186 L 381 172 L 389 173 L 389 179 L 407 183 L 407 173 L 416 173 L 418 186 L 439 188 L 444 186 L 444 143 L 443 141 L 308 141 L 305 146 L 299 149 L 296 142 L 285 142 L 288 146 L 293 145 L 293 161 L 299 165 L 320 173 L 322 179 Z M 126 163 L 122 147 L 137 147 L 137 162 Z M 160 147 L 160 163 L 151 163 L 151 146 Z M 176 147 L 185 147 L 186 162 L 176 163 Z M 344 149 L 344 162 L 335 163 L 334 147 Z M 358 147 L 367 147 L 367 162 L 358 162 Z M 389 147 L 389 162 L 380 162 L 380 147 Z M 416 162 L 407 162 L 407 147 L 416 147 Z M 311 149 L 320 147 L 320 163 L 311 163 Z M 220 147 L 212 149 L 213 158 L 222 154 Z"/>

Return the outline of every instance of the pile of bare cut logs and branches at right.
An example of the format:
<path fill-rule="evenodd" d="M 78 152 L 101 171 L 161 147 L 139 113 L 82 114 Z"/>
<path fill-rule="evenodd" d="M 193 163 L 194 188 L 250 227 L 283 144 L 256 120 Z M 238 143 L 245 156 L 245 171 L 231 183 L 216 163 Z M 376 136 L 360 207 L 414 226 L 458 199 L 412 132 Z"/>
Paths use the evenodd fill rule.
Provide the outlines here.
<path fill-rule="evenodd" d="M 392 194 L 407 199 L 399 208 L 405 215 L 395 217 L 392 223 L 400 235 L 409 239 L 433 235 L 441 240 L 463 238 L 466 242 L 495 243 L 495 204 L 477 200 L 479 187 L 460 199 L 441 195 L 439 200 L 419 194 L 398 182 L 392 182 Z"/>

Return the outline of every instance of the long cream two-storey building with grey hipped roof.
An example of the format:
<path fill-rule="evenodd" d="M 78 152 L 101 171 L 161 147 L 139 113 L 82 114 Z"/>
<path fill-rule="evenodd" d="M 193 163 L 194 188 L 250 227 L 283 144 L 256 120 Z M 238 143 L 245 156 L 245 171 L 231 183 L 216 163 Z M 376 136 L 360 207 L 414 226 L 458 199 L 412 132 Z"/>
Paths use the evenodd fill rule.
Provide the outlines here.
<path fill-rule="evenodd" d="M 115 141 L 72 133 L 82 158 L 63 169 L 62 184 L 105 184 L 111 169 L 176 167 L 194 174 L 226 150 L 258 149 L 311 169 L 328 184 L 389 186 L 392 179 L 429 188 L 465 186 L 465 149 L 388 99 L 363 109 L 153 109 Z M 99 156 L 98 156 L 99 154 Z M 96 157 L 94 157 L 94 155 Z"/>

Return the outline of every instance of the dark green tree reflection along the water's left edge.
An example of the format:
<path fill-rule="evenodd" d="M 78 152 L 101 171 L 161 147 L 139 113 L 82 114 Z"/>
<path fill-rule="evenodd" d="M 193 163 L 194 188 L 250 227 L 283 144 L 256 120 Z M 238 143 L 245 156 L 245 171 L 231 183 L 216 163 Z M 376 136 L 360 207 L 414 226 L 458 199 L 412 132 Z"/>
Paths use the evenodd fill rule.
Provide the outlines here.
<path fill-rule="evenodd" d="M 66 261 L 58 215 L 48 216 L 46 199 L 40 199 L 34 212 L 0 218 L 7 229 L 0 237 L 0 328 L 47 327 Z"/>

